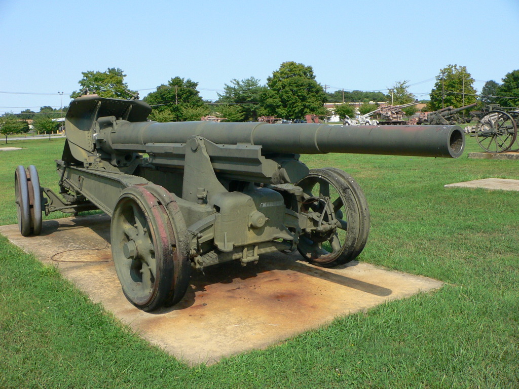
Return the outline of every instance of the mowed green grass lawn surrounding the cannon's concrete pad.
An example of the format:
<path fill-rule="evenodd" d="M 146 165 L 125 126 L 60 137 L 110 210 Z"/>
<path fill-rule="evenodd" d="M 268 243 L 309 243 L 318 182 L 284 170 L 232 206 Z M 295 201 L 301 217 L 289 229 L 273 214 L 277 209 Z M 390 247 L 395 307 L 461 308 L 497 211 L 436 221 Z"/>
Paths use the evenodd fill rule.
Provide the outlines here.
<path fill-rule="evenodd" d="M 467 141 L 468 151 L 479 151 L 474 138 Z M 53 160 L 63 140 L 18 144 L 27 149 L 0 154 L 2 224 L 16 223 L 16 165 L 35 164 L 44 186 L 59 179 Z M 443 187 L 519 179 L 519 161 L 469 160 L 467 153 L 457 160 L 302 159 L 311 168 L 343 169 L 364 189 L 372 224 L 359 260 L 446 285 L 190 368 L 0 238 L 0 387 L 519 387 L 519 192 Z"/>

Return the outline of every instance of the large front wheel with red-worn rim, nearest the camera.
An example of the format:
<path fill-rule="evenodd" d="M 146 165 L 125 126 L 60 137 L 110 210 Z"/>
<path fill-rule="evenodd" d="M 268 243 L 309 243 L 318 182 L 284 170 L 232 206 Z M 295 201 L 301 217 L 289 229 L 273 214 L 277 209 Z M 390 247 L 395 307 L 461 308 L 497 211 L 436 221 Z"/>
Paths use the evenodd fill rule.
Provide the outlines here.
<path fill-rule="evenodd" d="M 132 186 L 121 193 L 112 216 L 112 256 L 135 307 L 153 311 L 184 297 L 190 270 L 185 234 L 182 214 L 162 187 Z"/>

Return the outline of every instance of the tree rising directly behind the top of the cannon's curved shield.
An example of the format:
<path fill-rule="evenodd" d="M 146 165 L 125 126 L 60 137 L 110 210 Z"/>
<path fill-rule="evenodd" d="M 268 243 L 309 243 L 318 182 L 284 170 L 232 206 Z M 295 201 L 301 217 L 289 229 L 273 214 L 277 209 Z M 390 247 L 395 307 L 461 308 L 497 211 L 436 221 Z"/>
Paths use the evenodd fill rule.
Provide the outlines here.
<path fill-rule="evenodd" d="M 122 70 L 115 67 L 109 67 L 104 72 L 81 72 L 83 78 L 79 80 L 81 90 L 87 88 L 92 93 L 97 93 L 101 97 L 127 99 L 130 94 L 135 94 L 131 91 L 124 81 L 126 74 Z M 74 91 L 70 96 L 75 99 L 81 95 L 81 91 Z"/>

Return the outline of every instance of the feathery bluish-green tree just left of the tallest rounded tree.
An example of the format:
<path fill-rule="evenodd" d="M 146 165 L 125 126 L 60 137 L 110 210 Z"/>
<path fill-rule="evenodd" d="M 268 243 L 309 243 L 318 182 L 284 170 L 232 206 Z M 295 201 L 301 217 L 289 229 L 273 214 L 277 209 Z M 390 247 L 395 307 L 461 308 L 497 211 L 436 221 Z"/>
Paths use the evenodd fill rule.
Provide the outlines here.
<path fill-rule="evenodd" d="M 232 79 L 232 85 L 225 84 L 224 94 L 218 93 L 218 101 L 226 104 L 239 104 L 243 120 L 256 121 L 261 109 L 260 100 L 267 87 L 260 85 L 260 80 L 254 77 L 243 80 Z"/>

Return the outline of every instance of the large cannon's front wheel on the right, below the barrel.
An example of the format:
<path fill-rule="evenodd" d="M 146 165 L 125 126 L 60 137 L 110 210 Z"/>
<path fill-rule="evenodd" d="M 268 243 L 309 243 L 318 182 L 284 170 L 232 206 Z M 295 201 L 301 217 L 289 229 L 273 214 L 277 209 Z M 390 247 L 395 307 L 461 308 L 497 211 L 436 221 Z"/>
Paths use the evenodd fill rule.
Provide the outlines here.
<path fill-rule="evenodd" d="M 303 188 L 300 212 L 307 217 L 299 253 L 323 267 L 355 259 L 370 231 L 370 212 L 360 186 L 335 168 L 313 169 L 297 186 Z"/>

